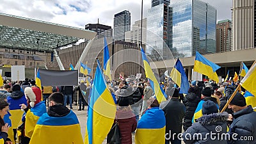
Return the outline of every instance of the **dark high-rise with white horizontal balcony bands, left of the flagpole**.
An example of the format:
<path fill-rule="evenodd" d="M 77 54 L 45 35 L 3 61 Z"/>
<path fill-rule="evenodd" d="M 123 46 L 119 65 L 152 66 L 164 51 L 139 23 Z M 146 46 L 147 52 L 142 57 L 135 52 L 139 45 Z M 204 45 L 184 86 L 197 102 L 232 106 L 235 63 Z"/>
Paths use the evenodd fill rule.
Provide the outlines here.
<path fill-rule="evenodd" d="M 125 32 L 131 30 L 131 13 L 127 10 L 114 16 L 114 40 L 125 40 Z"/>

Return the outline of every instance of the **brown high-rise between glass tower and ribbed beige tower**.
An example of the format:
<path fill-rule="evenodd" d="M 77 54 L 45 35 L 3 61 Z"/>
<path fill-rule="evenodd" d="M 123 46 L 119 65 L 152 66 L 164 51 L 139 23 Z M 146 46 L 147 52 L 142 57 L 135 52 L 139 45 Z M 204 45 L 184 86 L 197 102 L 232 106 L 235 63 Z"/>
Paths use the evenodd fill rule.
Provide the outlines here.
<path fill-rule="evenodd" d="M 218 21 L 216 28 L 216 52 L 231 51 L 232 32 L 231 20 Z"/>

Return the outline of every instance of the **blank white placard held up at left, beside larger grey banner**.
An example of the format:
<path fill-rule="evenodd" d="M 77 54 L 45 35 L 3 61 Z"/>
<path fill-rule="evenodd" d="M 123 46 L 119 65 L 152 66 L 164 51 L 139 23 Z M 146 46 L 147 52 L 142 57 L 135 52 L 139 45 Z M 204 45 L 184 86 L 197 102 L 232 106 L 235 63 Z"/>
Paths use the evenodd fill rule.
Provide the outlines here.
<path fill-rule="evenodd" d="M 11 67 L 12 81 L 25 81 L 25 66 L 13 65 Z"/>

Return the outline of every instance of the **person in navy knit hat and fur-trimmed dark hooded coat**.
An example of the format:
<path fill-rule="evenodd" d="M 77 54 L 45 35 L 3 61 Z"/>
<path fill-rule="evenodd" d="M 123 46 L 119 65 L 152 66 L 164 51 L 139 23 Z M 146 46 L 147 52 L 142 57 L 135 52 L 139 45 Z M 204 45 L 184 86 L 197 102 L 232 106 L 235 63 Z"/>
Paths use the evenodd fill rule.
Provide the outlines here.
<path fill-rule="evenodd" d="M 197 122 L 182 134 L 184 143 L 218 143 L 227 144 L 225 134 L 227 133 L 228 113 L 218 113 L 218 108 L 214 102 L 207 100 L 202 107 L 202 114 Z M 214 134 L 214 135 L 211 135 Z"/>

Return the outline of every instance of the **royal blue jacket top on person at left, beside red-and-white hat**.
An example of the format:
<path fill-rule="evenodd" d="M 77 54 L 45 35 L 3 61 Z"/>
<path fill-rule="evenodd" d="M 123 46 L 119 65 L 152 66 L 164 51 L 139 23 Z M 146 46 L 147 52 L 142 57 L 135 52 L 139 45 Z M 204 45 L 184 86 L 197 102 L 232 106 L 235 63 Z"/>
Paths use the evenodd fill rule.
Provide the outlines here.
<path fill-rule="evenodd" d="M 27 99 L 23 92 L 21 91 L 14 91 L 11 93 L 10 96 L 7 97 L 7 102 L 9 103 L 9 109 L 20 109 L 20 104 L 27 105 Z"/>

